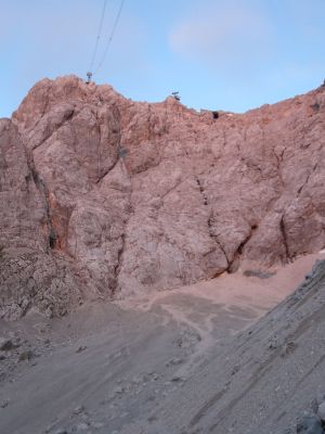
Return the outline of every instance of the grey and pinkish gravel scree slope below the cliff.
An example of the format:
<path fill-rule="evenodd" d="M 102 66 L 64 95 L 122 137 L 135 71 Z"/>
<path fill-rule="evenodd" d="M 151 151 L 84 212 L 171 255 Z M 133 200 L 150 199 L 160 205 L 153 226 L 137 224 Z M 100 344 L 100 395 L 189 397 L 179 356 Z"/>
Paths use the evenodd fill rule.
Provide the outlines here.
<path fill-rule="evenodd" d="M 63 319 L 2 321 L 16 347 L 0 352 L 1 434 L 295 432 L 325 392 L 325 261 L 258 319 L 315 257 L 268 279 L 240 269 Z"/>

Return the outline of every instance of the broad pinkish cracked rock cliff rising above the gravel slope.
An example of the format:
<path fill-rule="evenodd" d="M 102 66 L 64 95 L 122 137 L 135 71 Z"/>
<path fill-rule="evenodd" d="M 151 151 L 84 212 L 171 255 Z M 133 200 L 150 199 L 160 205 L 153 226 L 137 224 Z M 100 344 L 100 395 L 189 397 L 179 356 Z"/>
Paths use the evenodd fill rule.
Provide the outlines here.
<path fill-rule="evenodd" d="M 38 82 L 0 124 L 0 316 L 323 248 L 324 113 L 324 88 L 213 119 L 76 77 Z"/>

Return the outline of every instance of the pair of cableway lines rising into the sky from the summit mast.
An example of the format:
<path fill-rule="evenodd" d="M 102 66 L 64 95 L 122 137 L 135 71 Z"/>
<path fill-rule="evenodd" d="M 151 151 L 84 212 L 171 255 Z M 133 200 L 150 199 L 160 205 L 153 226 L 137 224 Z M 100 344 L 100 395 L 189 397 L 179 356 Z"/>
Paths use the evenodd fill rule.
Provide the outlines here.
<path fill-rule="evenodd" d="M 103 25 L 104 25 L 104 18 L 105 18 L 107 1 L 108 0 L 104 0 L 104 3 L 103 3 L 101 20 L 100 20 L 100 24 L 99 24 L 98 36 L 96 36 L 96 40 L 95 40 L 95 46 L 94 46 L 94 50 L 93 50 L 93 53 L 92 53 L 89 72 L 87 73 L 87 80 L 86 80 L 87 84 L 91 82 L 92 77 L 94 76 L 94 74 L 96 74 L 100 71 L 100 68 L 103 66 L 103 63 L 104 63 L 104 61 L 106 59 L 107 51 L 108 51 L 108 49 L 110 47 L 110 43 L 112 43 L 112 40 L 114 38 L 114 35 L 115 35 L 115 31 L 116 31 L 116 28 L 117 28 L 117 25 L 118 25 L 120 15 L 121 15 L 121 11 L 122 11 L 122 8 L 123 8 L 123 4 L 125 4 L 126 0 L 121 0 L 121 2 L 120 2 L 119 9 L 117 11 L 117 14 L 116 14 L 113 27 L 112 27 L 112 30 L 108 34 L 108 38 L 107 38 L 107 42 L 106 42 L 103 55 L 101 58 L 101 61 L 98 63 L 96 67 L 94 68 L 95 61 L 96 61 L 96 54 L 98 54 L 100 41 L 101 41 L 101 38 L 102 38 L 102 31 L 103 31 Z"/>

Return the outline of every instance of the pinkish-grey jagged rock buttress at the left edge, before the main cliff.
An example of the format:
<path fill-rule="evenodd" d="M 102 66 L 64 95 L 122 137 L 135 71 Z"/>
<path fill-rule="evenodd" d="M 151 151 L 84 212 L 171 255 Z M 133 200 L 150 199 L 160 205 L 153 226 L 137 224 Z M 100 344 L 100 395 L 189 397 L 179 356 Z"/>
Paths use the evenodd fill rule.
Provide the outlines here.
<path fill-rule="evenodd" d="M 31 302 L 49 316 L 81 302 L 78 271 L 60 252 L 49 254 L 46 186 L 17 128 L 0 120 L 0 317 L 15 319 Z"/>

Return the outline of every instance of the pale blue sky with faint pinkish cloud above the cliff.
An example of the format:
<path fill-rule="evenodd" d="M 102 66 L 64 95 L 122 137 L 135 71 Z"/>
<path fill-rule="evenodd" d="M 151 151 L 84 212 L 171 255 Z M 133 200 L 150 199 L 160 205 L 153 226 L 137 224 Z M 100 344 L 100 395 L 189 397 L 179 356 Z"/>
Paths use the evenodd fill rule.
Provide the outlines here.
<path fill-rule="evenodd" d="M 104 0 L 0 0 L 0 117 L 44 77 L 91 65 Z M 325 78 L 325 0 L 107 0 L 94 81 L 126 98 L 179 91 L 196 110 L 245 112 Z"/>

